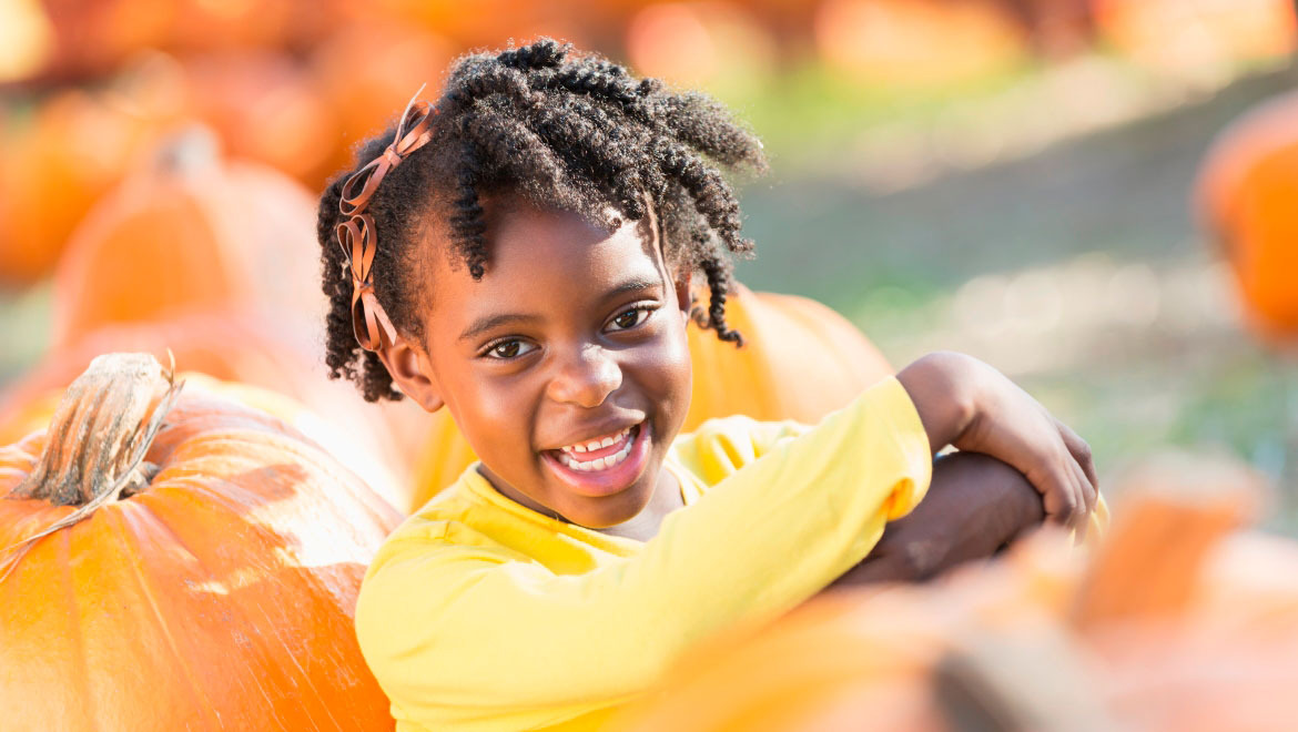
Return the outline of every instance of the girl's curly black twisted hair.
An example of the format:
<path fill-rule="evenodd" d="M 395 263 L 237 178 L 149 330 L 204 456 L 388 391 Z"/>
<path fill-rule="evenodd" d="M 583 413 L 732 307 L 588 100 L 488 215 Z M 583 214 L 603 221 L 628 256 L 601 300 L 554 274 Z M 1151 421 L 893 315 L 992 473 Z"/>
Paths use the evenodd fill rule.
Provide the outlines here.
<path fill-rule="evenodd" d="M 440 206 L 453 245 L 480 279 L 488 265 L 480 201 L 511 192 L 610 230 L 618 219 L 607 212 L 640 221 L 652 205 L 668 261 L 706 278 L 709 306 L 694 309 L 696 322 L 724 341 L 742 343 L 726 324 L 727 253 L 746 253 L 752 243 L 740 235 L 739 201 L 716 166 L 761 173 L 766 158 L 757 138 L 719 103 L 541 39 L 461 57 L 436 109 L 432 140 L 388 173 L 367 209 L 379 240 L 375 295 L 398 331 L 423 337 L 411 295 L 426 256 L 415 243 L 432 208 Z M 362 143 L 356 165 L 382 154 L 395 134 L 393 125 Z M 352 331 L 352 279 L 334 231 L 343 183 L 353 171 L 340 173 L 319 202 L 317 235 L 330 300 L 326 363 L 332 378 L 356 382 L 366 400 L 398 400 L 387 369 Z"/>

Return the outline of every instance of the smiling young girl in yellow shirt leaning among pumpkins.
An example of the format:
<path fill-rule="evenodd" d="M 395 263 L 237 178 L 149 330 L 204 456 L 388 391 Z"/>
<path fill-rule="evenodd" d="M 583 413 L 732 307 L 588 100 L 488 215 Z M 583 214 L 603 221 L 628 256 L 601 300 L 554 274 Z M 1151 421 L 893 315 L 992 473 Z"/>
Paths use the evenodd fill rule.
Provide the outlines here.
<path fill-rule="evenodd" d="M 328 365 L 369 400 L 449 409 L 480 457 L 361 589 L 357 633 L 398 729 L 596 728 L 716 631 L 850 572 L 933 568 L 880 549 L 923 533 L 884 524 L 945 445 L 1018 471 L 940 463 L 953 485 L 1022 474 L 1041 496 L 945 493 L 953 555 L 985 554 L 1041 506 L 1081 526 L 1096 505 L 1085 444 L 958 354 L 815 427 L 729 418 L 678 436 L 692 311 L 741 340 L 727 254 L 750 244 L 714 164 L 765 166 L 702 95 L 543 40 L 461 60 L 436 104 L 358 157 L 321 201 Z M 986 545 L 989 506 L 1010 518 Z"/>

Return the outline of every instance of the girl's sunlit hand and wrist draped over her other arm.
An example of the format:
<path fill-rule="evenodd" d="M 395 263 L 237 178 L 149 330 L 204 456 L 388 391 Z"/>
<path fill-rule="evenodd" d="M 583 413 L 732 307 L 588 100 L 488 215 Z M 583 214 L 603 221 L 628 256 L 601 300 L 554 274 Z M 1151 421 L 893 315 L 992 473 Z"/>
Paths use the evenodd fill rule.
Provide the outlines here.
<path fill-rule="evenodd" d="M 897 374 L 936 453 L 946 445 L 1015 467 L 1041 493 L 1046 517 L 1079 532 L 1096 509 L 1090 446 L 986 363 L 932 353 Z"/>

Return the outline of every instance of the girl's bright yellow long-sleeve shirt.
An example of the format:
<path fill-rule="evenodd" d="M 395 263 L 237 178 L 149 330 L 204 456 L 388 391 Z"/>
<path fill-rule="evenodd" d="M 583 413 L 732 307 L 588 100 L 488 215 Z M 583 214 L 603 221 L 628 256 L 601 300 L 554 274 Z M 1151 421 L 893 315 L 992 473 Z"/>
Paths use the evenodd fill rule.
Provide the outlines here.
<path fill-rule="evenodd" d="M 526 509 L 475 467 L 406 519 L 356 610 L 397 729 L 597 728 L 688 646 L 864 558 L 920 501 L 932 457 L 889 378 L 810 428 L 705 423 L 665 465 L 687 507 L 646 543 Z"/>

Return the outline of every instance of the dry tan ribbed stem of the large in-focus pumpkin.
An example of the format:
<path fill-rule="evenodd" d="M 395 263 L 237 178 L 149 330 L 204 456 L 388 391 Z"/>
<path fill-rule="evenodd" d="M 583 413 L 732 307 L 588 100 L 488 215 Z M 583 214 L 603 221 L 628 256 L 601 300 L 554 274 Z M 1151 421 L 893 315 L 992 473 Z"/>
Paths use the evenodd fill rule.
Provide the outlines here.
<path fill-rule="evenodd" d="M 164 371 L 148 353 L 95 358 L 64 392 L 36 469 L 12 494 L 78 506 L 58 522 L 69 526 L 123 492 L 147 488 L 152 474 L 144 456 L 182 385 L 174 362 Z"/>

